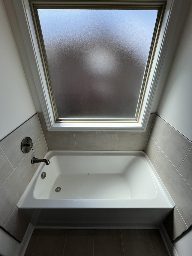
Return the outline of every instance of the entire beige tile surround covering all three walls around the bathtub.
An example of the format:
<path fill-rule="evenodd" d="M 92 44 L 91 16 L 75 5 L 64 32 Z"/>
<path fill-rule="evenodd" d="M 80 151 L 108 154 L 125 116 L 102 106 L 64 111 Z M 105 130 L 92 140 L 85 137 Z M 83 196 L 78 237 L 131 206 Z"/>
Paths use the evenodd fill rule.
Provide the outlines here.
<path fill-rule="evenodd" d="M 26 136 L 34 143 L 34 152 L 28 154 L 20 149 Z M 48 132 L 43 114 L 39 113 L 0 141 L 0 226 L 16 239 L 22 240 L 28 226 L 16 204 L 38 168 L 38 164 L 31 165 L 31 158 L 43 158 L 47 147 L 49 150 L 145 149 L 176 203 L 165 222 L 171 239 L 192 224 L 192 142 L 163 119 L 151 114 L 146 132 Z"/>

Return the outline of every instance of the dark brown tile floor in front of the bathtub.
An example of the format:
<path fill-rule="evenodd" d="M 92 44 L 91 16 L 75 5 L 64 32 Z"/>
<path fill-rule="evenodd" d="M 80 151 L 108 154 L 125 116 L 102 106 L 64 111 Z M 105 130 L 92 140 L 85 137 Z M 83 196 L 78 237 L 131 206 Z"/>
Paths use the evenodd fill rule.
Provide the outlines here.
<path fill-rule="evenodd" d="M 168 256 L 155 229 L 34 229 L 25 256 Z"/>

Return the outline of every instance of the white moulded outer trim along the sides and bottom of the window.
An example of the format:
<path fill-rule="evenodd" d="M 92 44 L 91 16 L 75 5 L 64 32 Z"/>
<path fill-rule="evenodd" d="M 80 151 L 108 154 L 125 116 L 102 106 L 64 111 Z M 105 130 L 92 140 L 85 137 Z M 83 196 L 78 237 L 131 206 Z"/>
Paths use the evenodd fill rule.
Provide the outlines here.
<path fill-rule="evenodd" d="M 117 0 L 120 1 L 120 0 Z M 138 1 L 141 2 L 141 1 Z M 161 1 L 159 1 L 161 2 Z M 49 99 L 49 92 L 46 86 L 44 68 L 41 62 L 41 56 L 38 48 L 38 42 L 35 35 L 35 29 L 32 21 L 32 15 L 28 0 L 13 1 L 23 40 L 28 54 L 29 63 L 32 69 L 35 85 L 38 91 L 39 100 L 44 113 L 44 118 L 48 131 L 145 131 L 151 113 L 151 106 L 155 91 L 158 85 L 158 79 L 161 74 L 164 57 L 166 55 L 167 45 L 170 40 L 170 31 L 173 26 L 173 3 L 174 0 L 167 0 L 164 12 L 161 30 L 156 46 L 156 51 L 149 74 L 148 85 L 143 100 L 143 106 L 140 112 L 138 122 L 135 123 L 58 123 L 55 122 L 52 113 L 52 106 Z M 163 86 L 163 85 L 162 85 Z"/>

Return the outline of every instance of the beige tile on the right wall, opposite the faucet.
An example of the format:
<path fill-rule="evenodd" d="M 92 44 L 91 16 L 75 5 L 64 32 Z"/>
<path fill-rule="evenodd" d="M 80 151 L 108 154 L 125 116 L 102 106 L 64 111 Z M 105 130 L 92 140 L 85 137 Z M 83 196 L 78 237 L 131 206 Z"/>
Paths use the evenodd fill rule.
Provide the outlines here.
<path fill-rule="evenodd" d="M 192 224 L 192 142 L 156 115 L 145 152 L 176 204 L 164 223 L 174 240 Z"/>

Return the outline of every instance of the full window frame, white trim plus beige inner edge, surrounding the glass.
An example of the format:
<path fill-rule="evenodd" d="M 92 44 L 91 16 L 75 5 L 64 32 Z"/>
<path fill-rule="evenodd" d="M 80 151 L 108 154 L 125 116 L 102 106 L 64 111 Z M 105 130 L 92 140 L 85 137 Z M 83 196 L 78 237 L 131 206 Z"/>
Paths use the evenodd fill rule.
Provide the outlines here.
<path fill-rule="evenodd" d="M 152 101 L 154 98 L 155 90 L 158 84 L 158 75 L 161 71 L 161 62 L 165 53 L 165 38 L 166 38 L 166 32 L 167 32 L 167 24 L 169 21 L 169 15 L 171 11 L 171 5 L 173 1 L 121 1 L 121 0 L 111 0 L 111 1 L 74 1 L 75 4 L 78 3 L 78 6 L 98 6 L 102 5 L 102 7 L 109 6 L 109 3 L 112 5 L 115 5 L 116 8 L 120 6 L 119 8 L 122 8 L 122 6 L 131 6 L 134 8 L 134 6 L 143 6 L 146 8 L 149 4 L 152 7 L 161 7 L 161 13 L 159 15 L 159 18 L 163 15 L 164 17 L 161 22 L 158 23 L 158 27 L 161 28 L 158 31 L 158 34 L 156 34 L 156 44 L 155 47 L 152 49 L 154 51 L 154 54 L 152 54 L 152 60 L 150 60 L 151 64 L 150 70 L 148 70 L 148 77 L 147 77 L 147 85 L 145 87 L 145 94 L 143 96 L 143 104 L 140 107 L 140 114 L 137 115 L 137 118 L 134 120 L 128 120 L 125 122 L 125 120 L 116 120 L 115 122 L 104 122 L 97 121 L 97 122 L 87 122 L 87 120 L 76 122 L 76 120 L 73 120 L 71 122 L 61 122 L 56 120 L 56 115 L 54 113 L 54 109 L 52 107 L 52 98 L 49 94 L 49 90 L 47 88 L 47 82 L 49 81 L 49 77 L 47 75 L 47 72 L 45 70 L 44 63 L 45 60 L 42 55 L 42 49 L 41 45 L 39 44 L 39 40 L 37 40 L 38 37 L 40 37 L 37 33 L 37 30 L 35 30 L 34 27 L 34 18 L 32 16 L 33 8 L 32 5 L 38 6 L 38 5 L 50 5 L 52 2 L 54 4 L 57 4 L 58 6 L 61 5 L 61 2 L 65 3 L 65 6 L 68 5 L 72 8 L 71 1 L 38 1 L 38 0 L 31 0 L 28 2 L 28 0 L 16 0 L 15 7 L 16 11 L 19 8 L 19 24 L 21 27 L 22 34 L 25 35 L 27 42 L 25 42 L 28 58 L 30 56 L 30 65 L 32 67 L 32 72 L 34 75 L 34 80 L 36 84 L 36 88 L 38 91 L 39 99 L 41 102 L 41 107 L 44 113 L 46 125 L 48 131 L 145 131 L 147 122 L 149 120 L 150 115 L 150 109 L 152 106 Z M 83 5 L 82 5 L 83 3 Z M 95 5 L 95 3 L 97 5 Z M 76 5 L 75 5 L 76 6 Z M 21 8 L 22 7 L 22 8 Z M 109 7 L 108 7 L 109 8 Z M 18 14 L 18 11 L 17 11 Z M 22 15 L 21 15 L 22 14 Z M 160 24 L 161 23 L 161 24 Z M 163 47 L 164 46 L 164 47 Z M 41 49 L 41 50 L 39 50 Z"/>

